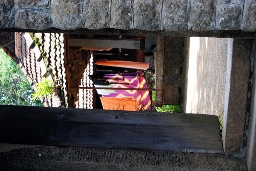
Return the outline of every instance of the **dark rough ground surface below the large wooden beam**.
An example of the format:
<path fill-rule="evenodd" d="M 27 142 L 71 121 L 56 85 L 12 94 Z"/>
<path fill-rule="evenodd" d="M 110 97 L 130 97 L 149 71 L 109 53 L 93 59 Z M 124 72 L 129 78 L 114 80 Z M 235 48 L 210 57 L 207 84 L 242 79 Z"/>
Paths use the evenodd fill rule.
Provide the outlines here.
<path fill-rule="evenodd" d="M 1 171 L 216 171 L 247 170 L 221 154 L 0 144 Z"/>

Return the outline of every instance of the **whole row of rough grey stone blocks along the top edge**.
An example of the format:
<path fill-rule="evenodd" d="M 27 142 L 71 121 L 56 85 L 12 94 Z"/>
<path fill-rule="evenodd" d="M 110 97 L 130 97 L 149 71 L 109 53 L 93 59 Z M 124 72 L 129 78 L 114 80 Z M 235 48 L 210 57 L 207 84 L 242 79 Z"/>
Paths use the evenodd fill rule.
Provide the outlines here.
<path fill-rule="evenodd" d="M 256 31 L 255 0 L 1 0 L 0 6 L 0 29 Z"/>

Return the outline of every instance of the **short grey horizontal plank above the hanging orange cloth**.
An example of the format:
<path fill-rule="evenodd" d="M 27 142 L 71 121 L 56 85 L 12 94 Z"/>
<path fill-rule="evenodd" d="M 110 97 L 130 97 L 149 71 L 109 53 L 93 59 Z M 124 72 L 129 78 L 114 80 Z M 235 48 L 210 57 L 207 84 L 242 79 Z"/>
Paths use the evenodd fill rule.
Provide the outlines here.
<path fill-rule="evenodd" d="M 137 39 L 69 38 L 69 46 L 144 49 L 144 40 L 140 38 L 137 38 Z"/>

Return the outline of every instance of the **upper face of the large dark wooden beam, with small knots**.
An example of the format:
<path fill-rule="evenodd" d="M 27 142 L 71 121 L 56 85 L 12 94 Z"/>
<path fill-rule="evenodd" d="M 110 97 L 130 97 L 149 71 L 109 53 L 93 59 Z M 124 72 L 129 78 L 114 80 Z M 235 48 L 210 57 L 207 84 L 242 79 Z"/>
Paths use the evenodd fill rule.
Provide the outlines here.
<path fill-rule="evenodd" d="M 0 119 L 56 120 L 87 123 L 118 123 L 134 125 L 182 126 L 190 128 L 217 129 L 218 117 L 206 114 L 131 112 L 101 109 L 74 109 L 0 105 Z M 36 111 L 36 114 L 35 112 Z"/>

